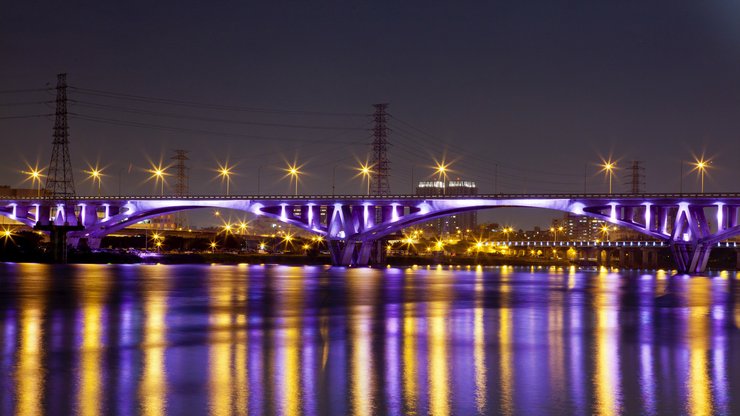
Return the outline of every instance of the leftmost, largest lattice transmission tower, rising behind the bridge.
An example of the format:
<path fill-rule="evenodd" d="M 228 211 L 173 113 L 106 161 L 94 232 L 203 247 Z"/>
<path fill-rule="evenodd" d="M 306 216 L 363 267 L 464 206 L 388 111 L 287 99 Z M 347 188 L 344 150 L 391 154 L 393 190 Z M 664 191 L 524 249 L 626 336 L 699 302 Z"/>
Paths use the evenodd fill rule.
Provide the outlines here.
<path fill-rule="evenodd" d="M 57 75 L 56 118 L 54 120 L 54 148 L 46 177 L 47 195 L 54 199 L 75 196 L 72 162 L 69 157 L 69 125 L 67 124 L 67 74 Z"/>

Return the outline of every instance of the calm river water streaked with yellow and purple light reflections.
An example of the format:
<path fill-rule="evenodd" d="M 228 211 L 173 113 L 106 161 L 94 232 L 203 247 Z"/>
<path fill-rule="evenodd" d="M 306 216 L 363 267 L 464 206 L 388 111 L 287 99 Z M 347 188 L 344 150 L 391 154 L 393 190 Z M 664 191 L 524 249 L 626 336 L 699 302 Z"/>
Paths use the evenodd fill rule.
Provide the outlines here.
<path fill-rule="evenodd" d="M 0 414 L 740 413 L 738 278 L 0 264 Z"/>

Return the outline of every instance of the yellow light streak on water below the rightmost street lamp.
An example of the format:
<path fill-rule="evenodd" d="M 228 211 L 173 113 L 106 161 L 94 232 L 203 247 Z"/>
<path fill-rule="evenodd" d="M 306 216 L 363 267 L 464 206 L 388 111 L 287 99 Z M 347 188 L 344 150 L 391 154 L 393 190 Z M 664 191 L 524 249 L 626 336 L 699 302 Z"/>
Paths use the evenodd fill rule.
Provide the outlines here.
<path fill-rule="evenodd" d="M 709 353 L 709 306 L 712 304 L 711 281 L 695 277 L 688 282 L 689 317 L 689 377 L 688 413 L 694 416 L 714 414 L 712 408 L 711 378 L 707 363 Z"/>

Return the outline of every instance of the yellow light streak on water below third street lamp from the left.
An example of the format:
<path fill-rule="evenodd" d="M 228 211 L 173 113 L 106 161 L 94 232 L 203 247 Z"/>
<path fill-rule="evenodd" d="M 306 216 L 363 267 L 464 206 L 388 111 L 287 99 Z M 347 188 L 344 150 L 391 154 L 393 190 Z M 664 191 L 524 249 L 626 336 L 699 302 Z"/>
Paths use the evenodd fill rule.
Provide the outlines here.
<path fill-rule="evenodd" d="M 167 379 L 164 352 L 167 345 L 168 279 L 159 267 L 142 267 L 144 302 L 144 339 L 141 345 L 144 362 L 139 384 L 139 403 L 145 416 L 165 414 Z"/>

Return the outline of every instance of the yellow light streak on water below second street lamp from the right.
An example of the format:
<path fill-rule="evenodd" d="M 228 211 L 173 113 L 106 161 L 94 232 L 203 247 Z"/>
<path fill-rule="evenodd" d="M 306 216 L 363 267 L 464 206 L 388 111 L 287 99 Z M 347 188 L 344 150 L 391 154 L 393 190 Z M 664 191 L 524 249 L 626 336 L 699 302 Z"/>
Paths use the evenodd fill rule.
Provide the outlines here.
<path fill-rule="evenodd" d="M 619 380 L 619 354 L 617 335 L 617 311 L 612 305 L 613 296 L 619 293 L 619 277 L 603 270 L 597 279 L 594 294 L 596 308 L 595 393 L 596 413 L 614 415 L 621 412 L 621 387 Z"/>

